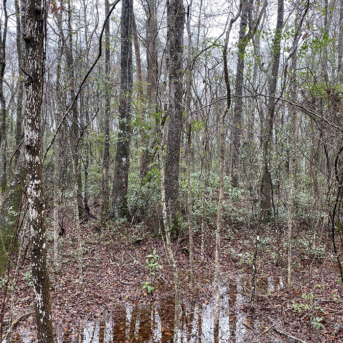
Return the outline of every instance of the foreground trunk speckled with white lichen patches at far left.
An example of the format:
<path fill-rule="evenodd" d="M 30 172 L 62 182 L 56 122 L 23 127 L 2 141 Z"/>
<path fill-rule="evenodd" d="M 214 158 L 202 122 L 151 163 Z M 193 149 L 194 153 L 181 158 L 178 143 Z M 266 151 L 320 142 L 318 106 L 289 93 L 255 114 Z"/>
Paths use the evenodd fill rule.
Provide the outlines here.
<path fill-rule="evenodd" d="M 27 225 L 31 232 L 31 270 L 35 297 L 37 338 L 53 343 L 49 273 L 47 267 L 46 213 L 42 165 L 43 13 L 40 0 L 26 1 L 25 162 Z"/>

